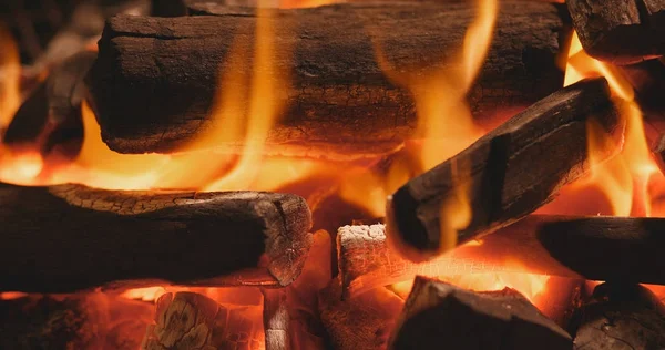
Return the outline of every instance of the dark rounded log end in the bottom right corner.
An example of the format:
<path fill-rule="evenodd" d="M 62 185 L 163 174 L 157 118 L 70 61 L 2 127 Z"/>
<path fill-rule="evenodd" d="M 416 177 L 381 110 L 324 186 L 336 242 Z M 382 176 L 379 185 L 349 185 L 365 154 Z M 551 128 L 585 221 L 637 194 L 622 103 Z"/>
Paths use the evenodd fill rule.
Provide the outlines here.
<path fill-rule="evenodd" d="M 574 349 L 664 349 L 663 303 L 638 285 L 603 284 L 579 310 Z"/>

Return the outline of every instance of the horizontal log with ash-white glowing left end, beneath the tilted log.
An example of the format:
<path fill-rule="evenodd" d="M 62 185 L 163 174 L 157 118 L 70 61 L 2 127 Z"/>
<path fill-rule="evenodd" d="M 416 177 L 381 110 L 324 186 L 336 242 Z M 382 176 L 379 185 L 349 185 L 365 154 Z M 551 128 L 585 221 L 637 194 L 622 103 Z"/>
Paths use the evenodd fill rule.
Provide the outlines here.
<path fill-rule="evenodd" d="M 385 226 L 345 226 L 337 235 L 345 297 L 416 275 L 530 272 L 591 280 L 665 284 L 665 219 L 530 215 L 482 244 L 411 262 L 389 248 Z M 612 258 L 607 258 L 612 257 Z"/>

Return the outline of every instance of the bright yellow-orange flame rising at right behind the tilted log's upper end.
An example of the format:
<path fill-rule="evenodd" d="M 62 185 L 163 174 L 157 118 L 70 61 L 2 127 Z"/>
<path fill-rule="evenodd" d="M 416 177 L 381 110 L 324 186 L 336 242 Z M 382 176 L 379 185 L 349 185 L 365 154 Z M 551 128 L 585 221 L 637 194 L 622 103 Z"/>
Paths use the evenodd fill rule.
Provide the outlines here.
<path fill-rule="evenodd" d="M 610 64 L 587 55 L 577 34 L 571 39 L 565 72 L 565 85 L 584 78 L 604 76 L 613 92 L 613 102 L 625 121 L 623 148 L 610 161 L 603 162 L 604 152 L 620 145 L 595 121 L 587 124 L 589 163 L 591 176 L 582 186 L 596 186 L 607 200 L 612 214 L 618 216 L 651 216 L 648 183 L 658 168 L 651 155 L 644 133 L 642 111 L 635 102 L 631 84 Z"/>

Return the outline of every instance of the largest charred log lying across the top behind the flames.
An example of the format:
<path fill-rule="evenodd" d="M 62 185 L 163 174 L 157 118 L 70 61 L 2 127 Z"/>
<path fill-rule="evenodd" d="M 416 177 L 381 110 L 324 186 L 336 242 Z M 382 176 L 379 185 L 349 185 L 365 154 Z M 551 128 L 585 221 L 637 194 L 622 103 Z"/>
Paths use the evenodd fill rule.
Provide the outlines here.
<path fill-rule="evenodd" d="M 274 45 L 282 50 L 274 69 L 291 80 L 280 82 L 286 111 L 267 143 L 282 153 L 326 157 L 392 152 L 412 136 L 416 105 L 408 90 L 381 72 L 374 42 L 397 69 L 428 74 L 461 45 L 472 9 L 418 2 L 276 10 Z M 116 17 L 108 23 L 89 78 L 102 137 L 112 150 L 177 150 L 214 126 L 219 78 L 229 71 L 249 76 L 250 62 L 229 58 L 234 42 L 254 42 L 256 14 L 214 4 L 196 13 L 215 16 Z M 563 27 L 555 4 L 503 2 L 497 37 L 469 93 L 473 112 L 526 106 L 556 91 Z"/>

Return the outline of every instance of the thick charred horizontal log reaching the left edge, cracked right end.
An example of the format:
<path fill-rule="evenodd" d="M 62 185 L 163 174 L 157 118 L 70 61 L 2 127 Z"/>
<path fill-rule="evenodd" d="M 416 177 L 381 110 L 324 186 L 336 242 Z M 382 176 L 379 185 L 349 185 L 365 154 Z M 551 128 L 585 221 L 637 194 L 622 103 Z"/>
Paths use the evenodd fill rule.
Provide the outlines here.
<path fill-rule="evenodd" d="M 117 280 L 286 286 L 311 241 L 295 195 L 4 185 L 0 206 L 0 291 Z"/>

